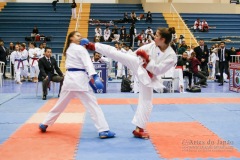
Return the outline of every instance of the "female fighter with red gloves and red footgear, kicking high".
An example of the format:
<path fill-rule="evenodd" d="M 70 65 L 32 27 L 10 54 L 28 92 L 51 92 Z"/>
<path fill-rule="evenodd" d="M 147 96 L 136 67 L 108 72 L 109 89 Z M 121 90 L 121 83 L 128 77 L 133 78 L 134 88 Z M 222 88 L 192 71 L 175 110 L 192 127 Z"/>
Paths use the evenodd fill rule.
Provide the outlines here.
<path fill-rule="evenodd" d="M 154 42 L 140 47 L 135 51 L 136 56 L 122 54 L 116 48 L 100 44 L 89 43 L 87 49 L 95 50 L 126 65 L 139 79 L 138 108 L 132 123 L 136 125 L 133 135 L 148 139 L 149 134 L 144 131 L 152 111 L 153 88 L 162 88 L 161 75 L 172 68 L 177 62 L 176 53 L 170 46 L 172 30 L 158 28 Z"/>

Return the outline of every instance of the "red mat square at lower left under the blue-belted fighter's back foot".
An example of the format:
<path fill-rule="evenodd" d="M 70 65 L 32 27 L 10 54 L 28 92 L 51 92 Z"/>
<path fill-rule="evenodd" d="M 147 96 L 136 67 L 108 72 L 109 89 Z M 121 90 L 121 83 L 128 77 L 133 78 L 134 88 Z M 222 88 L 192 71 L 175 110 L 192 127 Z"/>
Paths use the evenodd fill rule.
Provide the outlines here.
<path fill-rule="evenodd" d="M 74 159 L 81 129 L 82 124 L 54 124 L 43 134 L 37 124 L 24 124 L 0 146 L 0 159 Z"/>

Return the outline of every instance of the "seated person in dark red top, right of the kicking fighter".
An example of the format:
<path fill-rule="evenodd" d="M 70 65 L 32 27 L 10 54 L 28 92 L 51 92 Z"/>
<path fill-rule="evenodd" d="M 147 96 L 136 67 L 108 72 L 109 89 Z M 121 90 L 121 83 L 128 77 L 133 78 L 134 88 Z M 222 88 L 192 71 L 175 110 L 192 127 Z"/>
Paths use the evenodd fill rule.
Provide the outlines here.
<path fill-rule="evenodd" d="M 193 76 L 198 77 L 199 81 L 195 83 L 195 85 L 202 85 L 203 87 L 206 87 L 207 85 L 207 78 L 206 73 L 203 71 L 200 71 L 199 65 L 201 62 L 196 58 L 196 53 L 192 52 L 190 57 L 190 65 L 191 65 L 191 72 L 193 72 Z"/>

